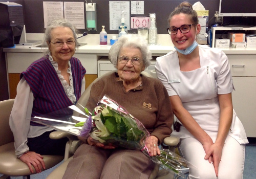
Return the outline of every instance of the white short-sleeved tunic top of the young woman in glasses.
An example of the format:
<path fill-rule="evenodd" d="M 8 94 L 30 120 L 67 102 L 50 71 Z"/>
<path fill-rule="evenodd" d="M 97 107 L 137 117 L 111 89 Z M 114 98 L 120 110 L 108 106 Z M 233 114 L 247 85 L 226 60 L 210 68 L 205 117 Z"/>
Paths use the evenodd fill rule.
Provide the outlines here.
<path fill-rule="evenodd" d="M 217 133 L 220 121 L 218 94 L 233 91 L 232 77 L 227 56 L 219 49 L 199 45 L 200 68 L 180 71 L 177 51 L 158 57 L 155 65 L 157 77 L 163 82 L 169 96 L 178 95 L 184 108 L 207 133 Z M 234 122 L 236 121 L 236 127 Z M 233 133 L 232 133 L 233 132 Z M 238 136 L 236 137 L 238 132 Z M 236 135 L 234 135 L 236 133 Z M 185 127 L 173 132 L 180 138 L 191 137 Z M 233 113 L 229 131 L 240 143 L 247 143 L 242 123 Z"/>

